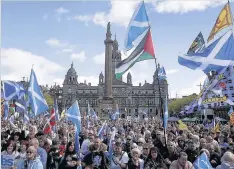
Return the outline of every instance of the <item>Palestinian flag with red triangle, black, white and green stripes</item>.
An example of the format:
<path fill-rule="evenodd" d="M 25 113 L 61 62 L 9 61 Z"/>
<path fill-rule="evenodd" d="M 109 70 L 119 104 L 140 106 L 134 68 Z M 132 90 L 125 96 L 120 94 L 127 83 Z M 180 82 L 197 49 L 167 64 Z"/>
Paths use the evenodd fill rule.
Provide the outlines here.
<path fill-rule="evenodd" d="M 121 76 L 135 63 L 148 59 L 155 59 L 154 46 L 150 29 L 148 29 L 141 42 L 133 50 L 130 56 L 116 65 L 116 78 L 120 79 Z"/>

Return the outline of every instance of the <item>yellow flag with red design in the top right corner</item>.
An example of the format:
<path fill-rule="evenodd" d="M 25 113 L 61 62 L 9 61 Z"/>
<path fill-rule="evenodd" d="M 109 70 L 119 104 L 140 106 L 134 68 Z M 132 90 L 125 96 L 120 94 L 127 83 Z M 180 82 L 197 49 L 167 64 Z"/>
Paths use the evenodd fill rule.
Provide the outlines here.
<path fill-rule="evenodd" d="M 221 12 L 220 12 L 220 14 L 215 22 L 215 25 L 214 25 L 212 31 L 210 32 L 210 36 L 209 36 L 207 42 L 212 40 L 216 33 L 218 33 L 222 29 L 224 29 L 232 24 L 233 24 L 233 21 L 232 21 L 232 15 L 231 15 L 231 8 L 230 8 L 230 4 L 228 2 L 221 10 Z"/>

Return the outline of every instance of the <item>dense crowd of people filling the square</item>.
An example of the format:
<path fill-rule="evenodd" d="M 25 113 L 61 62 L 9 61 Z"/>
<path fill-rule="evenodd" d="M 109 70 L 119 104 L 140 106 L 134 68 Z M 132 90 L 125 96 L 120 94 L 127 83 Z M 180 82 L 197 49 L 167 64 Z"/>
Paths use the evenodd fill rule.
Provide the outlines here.
<path fill-rule="evenodd" d="M 89 118 L 87 124 L 87 119 L 82 119 L 78 149 L 75 126 L 66 119 L 49 134 L 43 132 L 47 120 L 43 116 L 27 124 L 15 121 L 14 126 L 2 120 L 1 154 L 14 159 L 13 166 L 2 168 L 194 169 L 204 152 L 213 168 L 234 168 L 234 126 L 230 124 L 221 125 L 219 131 L 202 124 L 188 124 L 182 130 L 169 122 L 165 133 L 158 118 L 118 119 L 106 122 L 100 134 L 104 122 Z"/>

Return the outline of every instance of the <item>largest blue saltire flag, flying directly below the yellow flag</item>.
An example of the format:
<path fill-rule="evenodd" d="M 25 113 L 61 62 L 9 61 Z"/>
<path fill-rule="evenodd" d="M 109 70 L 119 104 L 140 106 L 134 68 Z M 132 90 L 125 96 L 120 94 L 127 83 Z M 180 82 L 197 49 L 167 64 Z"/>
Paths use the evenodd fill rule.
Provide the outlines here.
<path fill-rule="evenodd" d="M 204 73 L 221 71 L 224 67 L 234 63 L 233 30 L 229 30 L 208 44 L 201 52 L 180 55 L 178 62 L 193 70 L 202 69 Z"/>

